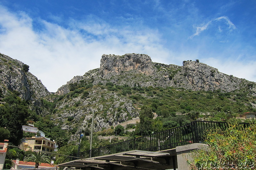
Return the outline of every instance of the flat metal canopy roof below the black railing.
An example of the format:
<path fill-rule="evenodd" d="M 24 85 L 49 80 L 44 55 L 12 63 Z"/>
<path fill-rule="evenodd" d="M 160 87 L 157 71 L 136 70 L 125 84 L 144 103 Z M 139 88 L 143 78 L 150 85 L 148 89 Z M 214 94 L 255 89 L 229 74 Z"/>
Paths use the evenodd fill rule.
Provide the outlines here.
<path fill-rule="evenodd" d="M 110 169 L 109 166 L 118 166 L 123 167 L 124 169 L 137 168 L 137 169 L 151 169 L 146 168 L 145 166 L 140 167 L 142 162 L 147 164 L 158 164 L 158 165 L 167 165 L 165 158 L 170 158 L 170 153 L 163 153 L 163 152 L 148 152 L 148 151 L 127 151 L 127 152 L 120 152 L 110 155 L 98 156 L 93 158 L 86 158 L 86 159 L 77 159 L 69 162 L 65 162 L 56 166 L 67 166 L 73 168 L 81 168 L 81 169 Z M 156 160 L 153 160 L 157 159 Z M 163 159 L 164 163 L 159 162 L 159 160 Z M 155 170 L 155 169 L 153 169 Z"/>

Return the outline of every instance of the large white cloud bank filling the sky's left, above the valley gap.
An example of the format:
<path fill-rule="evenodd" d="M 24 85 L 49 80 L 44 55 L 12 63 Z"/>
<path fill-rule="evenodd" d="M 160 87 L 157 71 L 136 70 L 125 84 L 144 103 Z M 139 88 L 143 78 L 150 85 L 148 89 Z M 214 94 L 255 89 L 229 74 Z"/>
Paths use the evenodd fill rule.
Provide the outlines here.
<path fill-rule="evenodd" d="M 169 56 L 157 31 L 146 27 L 113 28 L 100 20 L 73 20 L 68 21 L 72 27 L 63 28 L 37 18 L 44 29 L 35 29 L 25 13 L 13 14 L 4 7 L 0 11 L 0 27 L 5 30 L 0 33 L 0 52 L 28 64 L 51 92 L 74 76 L 99 68 L 102 54 L 143 53 L 163 63 Z"/>

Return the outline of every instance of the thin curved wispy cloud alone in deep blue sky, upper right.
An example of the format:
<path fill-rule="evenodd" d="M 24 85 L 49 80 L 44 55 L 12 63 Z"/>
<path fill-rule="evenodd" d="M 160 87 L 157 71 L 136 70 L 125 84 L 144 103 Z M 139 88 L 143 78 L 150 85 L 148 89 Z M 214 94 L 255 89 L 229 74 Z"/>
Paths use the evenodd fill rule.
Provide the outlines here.
<path fill-rule="evenodd" d="M 236 29 L 236 26 L 230 21 L 230 19 L 227 16 L 222 16 L 222 17 L 212 19 L 209 22 L 207 22 L 206 24 L 201 24 L 200 26 L 194 26 L 196 28 L 196 33 L 191 35 L 189 38 L 192 39 L 193 37 L 199 35 L 204 30 L 208 29 L 212 25 L 213 22 L 222 21 L 222 20 L 226 21 L 225 24 L 228 26 L 229 31 Z M 222 29 L 220 26 L 218 26 L 218 30 L 220 32 L 222 32 Z"/>

